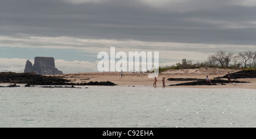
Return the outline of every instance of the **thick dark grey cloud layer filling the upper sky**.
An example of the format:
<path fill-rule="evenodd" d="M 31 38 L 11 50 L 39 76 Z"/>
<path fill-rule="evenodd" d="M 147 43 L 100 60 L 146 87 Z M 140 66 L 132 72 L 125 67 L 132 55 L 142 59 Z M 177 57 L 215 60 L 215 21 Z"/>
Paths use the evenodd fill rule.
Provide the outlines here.
<path fill-rule="evenodd" d="M 235 3 L 235 4 L 234 4 Z M 1 35 L 255 45 L 256 9 L 239 1 L 1 1 Z"/>

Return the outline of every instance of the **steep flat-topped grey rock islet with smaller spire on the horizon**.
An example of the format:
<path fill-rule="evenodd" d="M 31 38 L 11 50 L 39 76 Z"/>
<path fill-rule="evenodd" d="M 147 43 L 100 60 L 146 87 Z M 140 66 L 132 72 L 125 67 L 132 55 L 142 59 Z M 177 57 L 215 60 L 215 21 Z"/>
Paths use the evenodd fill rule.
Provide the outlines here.
<path fill-rule="evenodd" d="M 55 68 L 55 60 L 53 57 L 35 57 L 35 63 L 27 60 L 24 73 L 34 72 L 39 75 L 63 74 L 62 71 Z"/>

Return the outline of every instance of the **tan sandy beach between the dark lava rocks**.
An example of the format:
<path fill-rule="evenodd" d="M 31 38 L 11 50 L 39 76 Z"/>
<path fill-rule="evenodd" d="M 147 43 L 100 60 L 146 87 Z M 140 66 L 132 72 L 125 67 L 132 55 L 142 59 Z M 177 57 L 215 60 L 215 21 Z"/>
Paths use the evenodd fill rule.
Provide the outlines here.
<path fill-rule="evenodd" d="M 159 74 L 157 77 L 158 82 L 156 85 L 158 87 L 163 87 L 162 78 L 166 78 L 166 87 L 191 87 L 191 88 L 202 88 L 202 89 L 216 89 L 216 88 L 240 88 L 240 89 L 256 89 L 256 79 L 255 78 L 238 78 L 237 81 L 246 81 L 250 83 L 226 83 L 226 85 L 217 86 L 169 86 L 177 83 L 184 83 L 189 81 L 168 81 L 168 78 L 197 78 L 205 79 L 208 75 L 209 79 L 216 77 L 223 77 L 228 72 L 235 73 L 240 70 L 232 69 L 217 69 L 217 68 L 200 68 L 200 69 L 180 69 L 180 70 L 167 70 Z M 63 74 L 60 75 L 65 79 L 70 79 L 74 83 L 87 83 L 87 82 L 106 82 L 110 81 L 118 86 L 148 86 L 154 87 L 154 78 L 148 78 L 148 73 L 130 73 L 124 72 L 123 77 L 119 72 L 92 72 L 92 73 L 73 73 L 73 74 Z M 227 80 L 226 78 L 223 78 Z M 233 79 L 231 79 L 232 81 Z M 190 81 L 191 82 L 191 81 Z"/>

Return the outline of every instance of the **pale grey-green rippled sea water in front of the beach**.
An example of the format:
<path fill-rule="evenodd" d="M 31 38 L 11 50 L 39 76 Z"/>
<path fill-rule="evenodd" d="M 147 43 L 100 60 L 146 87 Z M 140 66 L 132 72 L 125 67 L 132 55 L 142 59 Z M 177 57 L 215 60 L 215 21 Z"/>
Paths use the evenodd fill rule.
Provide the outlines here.
<path fill-rule="evenodd" d="M 0 127 L 256 127 L 255 106 L 250 89 L 0 88 Z"/>

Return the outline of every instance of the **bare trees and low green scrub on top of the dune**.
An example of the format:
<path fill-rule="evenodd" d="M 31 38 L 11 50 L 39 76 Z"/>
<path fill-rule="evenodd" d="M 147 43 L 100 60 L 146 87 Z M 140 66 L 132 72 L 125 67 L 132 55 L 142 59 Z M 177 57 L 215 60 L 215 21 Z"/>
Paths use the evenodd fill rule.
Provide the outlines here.
<path fill-rule="evenodd" d="M 197 68 L 220 68 L 256 70 L 256 51 L 247 50 L 234 54 L 232 52 L 218 51 L 208 56 L 206 61 L 193 63 L 192 60 L 183 59 L 182 62 L 172 66 L 160 66 L 159 73 L 166 70 L 197 69 Z"/>

